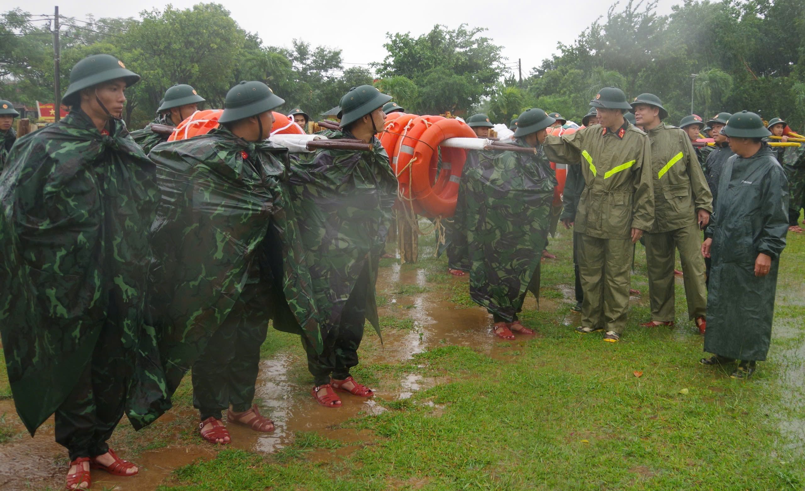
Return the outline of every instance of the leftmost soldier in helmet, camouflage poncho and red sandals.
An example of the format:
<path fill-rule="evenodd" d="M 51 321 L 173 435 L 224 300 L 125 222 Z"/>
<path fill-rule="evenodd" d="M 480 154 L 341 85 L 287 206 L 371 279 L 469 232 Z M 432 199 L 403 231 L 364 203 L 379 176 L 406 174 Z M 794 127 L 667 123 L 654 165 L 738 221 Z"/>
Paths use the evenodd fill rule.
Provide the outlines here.
<path fill-rule="evenodd" d="M 137 472 L 106 440 L 146 336 L 147 233 L 159 195 L 153 164 L 112 116 L 138 80 L 114 56 L 76 63 L 63 99 L 71 113 L 20 138 L 0 184 L 0 255 L 19 252 L 23 272 L 10 278 L 16 301 L 0 313 L 11 390 L 31 435 L 56 412 L 56 441 L 72 461 L 68 488 L 89 485 L 89 462 Z"/>

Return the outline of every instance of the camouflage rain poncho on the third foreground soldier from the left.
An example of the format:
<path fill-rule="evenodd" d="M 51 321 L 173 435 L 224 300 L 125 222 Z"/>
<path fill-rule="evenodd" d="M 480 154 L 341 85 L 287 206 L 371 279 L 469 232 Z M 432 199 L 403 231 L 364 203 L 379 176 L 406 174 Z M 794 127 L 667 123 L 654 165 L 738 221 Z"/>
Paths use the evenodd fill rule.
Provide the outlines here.
<path fill-rule="evenodd" d="M 325 132 L 331 139 L 354 138 Z M 291 166 L 294 205 L 320 315 L 322 335 L 341 320 L 349 293 L 366 264 L 366 317 L 378 329 L 374 284 L 377 258 L 391 223 L 397 179 L 377 138 L 374 151 L 319 150 Z"/>

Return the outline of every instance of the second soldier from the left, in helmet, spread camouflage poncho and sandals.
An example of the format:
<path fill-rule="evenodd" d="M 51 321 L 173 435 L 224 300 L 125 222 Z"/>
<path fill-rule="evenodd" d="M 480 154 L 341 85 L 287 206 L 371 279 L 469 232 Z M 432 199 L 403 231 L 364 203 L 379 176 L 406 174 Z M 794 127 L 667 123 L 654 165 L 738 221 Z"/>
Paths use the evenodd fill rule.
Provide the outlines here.
<path fill-rule="evenodd" d="M 225 410 L 230 423 L 271 432 L 274 424 L 253 404 L 268 321 L 303 334 L 321 351 L 311 280 L 283 184 L 287 149 L 263 141 L 273 122 L 270 109 L 283 102 L 262 82 L 242 82 L 226 96 L 220 128 L 157 145 L 149 154 L 162 193 L 151 274 L 167 385 L 163 394 L 159 364 L 143 374 L 142 423 L 170 407 L 192 366 L 204 439 L 229 443 Z"/>

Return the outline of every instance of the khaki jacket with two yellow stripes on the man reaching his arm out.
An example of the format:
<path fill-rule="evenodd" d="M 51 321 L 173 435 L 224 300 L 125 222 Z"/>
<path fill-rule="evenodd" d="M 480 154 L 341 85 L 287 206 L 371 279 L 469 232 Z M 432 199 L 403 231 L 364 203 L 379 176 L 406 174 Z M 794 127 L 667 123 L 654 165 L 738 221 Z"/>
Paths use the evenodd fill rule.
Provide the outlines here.
<path fill-rule="evenodd" d="M 646 133 L 625 123 L 615 131 L 592 125 L 570 135 L 549 136 L 551 162 L 581 164 L 584 190 L 574 229 L 599 239 L 628 239 L 632 228 L 654 223 L 651 149 Z"/>

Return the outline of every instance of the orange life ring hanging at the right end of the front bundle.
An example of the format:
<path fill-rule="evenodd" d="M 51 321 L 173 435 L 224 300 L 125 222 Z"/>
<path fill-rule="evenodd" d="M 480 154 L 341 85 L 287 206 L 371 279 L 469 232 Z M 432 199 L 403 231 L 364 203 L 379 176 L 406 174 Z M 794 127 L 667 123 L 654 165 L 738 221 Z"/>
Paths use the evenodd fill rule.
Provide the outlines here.
<path fill-rule="evenodd" d="M 443 147 L 442 168 L 437 173 L 439 153 L 436 148 L 448 138 L 474 138 L 475 132 L 463 121 L 440 119 L 418 137 L 411 160 L 411 191 L 426 212 L 425 216 L 451 217 L 456 212 L 458 186 L 467 153 L 463 149 Z"/>

